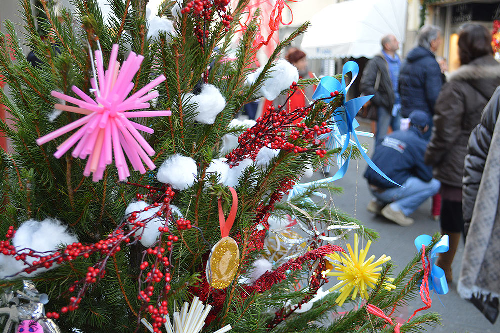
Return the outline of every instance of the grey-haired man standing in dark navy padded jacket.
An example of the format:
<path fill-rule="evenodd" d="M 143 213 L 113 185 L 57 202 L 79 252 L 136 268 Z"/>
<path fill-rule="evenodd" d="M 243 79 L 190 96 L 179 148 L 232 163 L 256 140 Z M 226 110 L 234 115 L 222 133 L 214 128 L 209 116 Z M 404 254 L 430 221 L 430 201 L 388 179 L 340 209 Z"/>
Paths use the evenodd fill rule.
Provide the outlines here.
<path fill-rule="evenodd" d="M 408 117 L 411 111 L 422 110 L 432 117 L 443 83 L 441 69 L 434 56 L 441 44 L 440 29 L 425 25 L 418 32 L 417 40 L 418 46 L 408 53 L 399 74 L 401 115 Z"/>

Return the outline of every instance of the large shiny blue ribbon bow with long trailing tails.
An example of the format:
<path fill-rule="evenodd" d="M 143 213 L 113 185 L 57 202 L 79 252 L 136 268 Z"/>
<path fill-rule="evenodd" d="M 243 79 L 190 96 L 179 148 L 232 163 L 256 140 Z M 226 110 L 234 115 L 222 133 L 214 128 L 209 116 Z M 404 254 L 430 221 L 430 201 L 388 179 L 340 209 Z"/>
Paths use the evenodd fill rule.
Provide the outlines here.
<path fill-rule="evenodd" d="M 350 83 L 346 86 L 345 85 L 345 75 L 347 73 L 352 73 L 352 80 L 350 80 Z M 327 98 L 331 97 L 331 92 L 338 91 L 342 94 L 344 94 L 344 100 L 342 102 L 342 105 L 339 106 L 335 110 L 335 115 L 333 116 L 333 120 L 335 121 L 335 125 L 337 126 L 339 132 L 341 135 L 346 135 L 344 144 L 342 146 L 342 150 L 340 152 L 340 155 L 342 155 L 346 150 L 347 147 L 349 146 L 350 137 L 354 139 L 355 145 L 358 147 L 361 147 L 361 143 L 359 142 L 359 139 L 357 138 L 356 131 L 354 130 L 359 126 L 359 123 L 355 119 L 355 116 L 359 109 L 368 101 L 370 100 L 373 95 L 367 95 L 367 96 L 361 96 L 361 97 L 356 97 L 352 98 L 347 101 L 347 92 L 350 88 L 350 86 L 354 83 L 354 80 L 356 80 L 357 75 L 359 74 L 359 66 L 357 65 L 356 62 L 354 61 L 348 61 L 344 64 L 342 68 L 342 80 L 341 82 L 338 82 L 337 79 L 331 76 L 326 76 L 321 78 L 319 81 L 319 84 L 314 91 L 314 94 L 312 95 L 312 99 L 317 100 L 319 98 Z M 325 102 L 331 102 L 334 99 L 334 97 L 328 98 L 325 100 Z M 332 131 L 334 133 L 334 131 Z M 327 133 L 327 135 L 331 136 L 333 133 Z M 323 136 L 324 138 L 324 136 Z M 375 170 L 380 176 L 383 178 L 387 179 L 391 183 L 401 186 L 398 183 L 394 182 L 392 179 L 387 177 L 385 173 L 383 173 L 376 165 L 371 161 L 371 159 L 368 157 L 364 149 L 359 149 L 359 152 L 361 153 L 361 156 L 363 159 L 366 161 L 366 163 L 373 169 Z M 350 161 L 350 156 L 352 154 L 352 146 L 349 151 L 349 156 L 345 160 L 345 162 L 342 164 L 340 169 L 329 178 L 323 179 L 325 182 L 331 182 L 337 179 L 342 178 L 345 173 L 347 172 L 347 168 L 349 167 L 349 161 Z"/>

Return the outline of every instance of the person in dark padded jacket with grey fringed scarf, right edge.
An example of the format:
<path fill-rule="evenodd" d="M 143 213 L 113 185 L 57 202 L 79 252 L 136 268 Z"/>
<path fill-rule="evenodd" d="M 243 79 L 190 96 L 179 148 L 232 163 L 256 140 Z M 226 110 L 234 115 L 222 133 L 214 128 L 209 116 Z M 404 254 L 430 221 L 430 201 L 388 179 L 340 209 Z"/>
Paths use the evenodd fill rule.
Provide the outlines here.
<path fill-rule="evenodd" d="M 457 290 L 494 323 L 499 312 L 500 87 L 470 134 L 463 169 L 462 212 L 467 238 Z M 470 227 L 467 225 L 470 224 Z"/>

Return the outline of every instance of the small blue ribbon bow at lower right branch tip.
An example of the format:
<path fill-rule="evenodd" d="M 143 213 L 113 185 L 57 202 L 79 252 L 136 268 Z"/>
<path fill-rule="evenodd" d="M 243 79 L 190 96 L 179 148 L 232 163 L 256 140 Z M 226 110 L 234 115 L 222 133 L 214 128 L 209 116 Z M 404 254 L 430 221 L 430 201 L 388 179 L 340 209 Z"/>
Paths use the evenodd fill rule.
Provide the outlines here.
<path fill-rule="evenodd" d="M 429 246 L 432 242 L 432 236 L 420 235 L 415 238 L 415 247 L 417 250 L 422 249 L 422 245 Z M 447 252 L 449 250 L 449 236 L 444 235 L 430 250 L 430 277 L 429 277 L 429 290 L 434 289 L 439 295 L 448 293 L 448 282 L 444 275 L 444 270 L 435 264 L 437 260 L 437 253 Z"/>

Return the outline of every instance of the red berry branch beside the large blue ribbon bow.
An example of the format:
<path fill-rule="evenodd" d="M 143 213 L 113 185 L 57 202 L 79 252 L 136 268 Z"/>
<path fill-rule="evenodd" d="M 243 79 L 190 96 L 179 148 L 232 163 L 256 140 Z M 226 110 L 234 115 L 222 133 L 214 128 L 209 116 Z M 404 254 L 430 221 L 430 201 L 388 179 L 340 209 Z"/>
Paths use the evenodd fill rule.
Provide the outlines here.
<path fill-rule="evenodd" d="M 296 92 L 298 87 L 297 83 L 293 82 L 290 88 L 294 91 L 288 99 Z M 331 93 L 331 97 L 337 97 L 338 95 L 338 91 Z M 245 158 L 255 160 L 262 147 L 281 149 L 293 153 L 313 150 L 320 157 L 324 157 L 326 150 L 311 146 L 319 147 L 324 143 L 318 139 L 318 136 L 331 131 L 328 124 L 323 121 L 321 124 L 307 127 L 305 123 L 296 125 L 294 123 L 306 117 L 316 103 L 331 97 L 318 99 L 308 107 L 297 108 L 293 111 L 287 111 L 283 106 L 278 106 L 278 109 L 269 106 L 267 108 L 268 113 L 259 117 L 253 127 L 239 136 L 239 146 L 225 156 L 227 158 L 226 163 L 233 167 L 237 166 Z"/>

